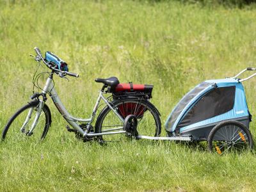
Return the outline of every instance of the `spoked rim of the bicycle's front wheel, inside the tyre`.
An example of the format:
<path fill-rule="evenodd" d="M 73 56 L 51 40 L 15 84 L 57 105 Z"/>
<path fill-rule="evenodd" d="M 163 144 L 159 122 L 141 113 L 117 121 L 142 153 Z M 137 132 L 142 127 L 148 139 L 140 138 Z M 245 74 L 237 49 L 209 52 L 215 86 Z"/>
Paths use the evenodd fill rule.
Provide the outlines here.
<path fill-rule="evenodd" d="M 28 123 L 24 125 L 26 122 L 26 118 L 31 111 L 31 118 L 29 118 Z M 42 141 L 47 133 L 49 122 L 47 122 L 47 111 L 45 109 L 42 110 L 40 117 L 38 119 L 38 123 L 36 124 L 35 129 L 33 130 L 33 134 L 29 136 L 28 132 L 31 130 L 31 125 L 33 124 L 36 116 L 36 108 L 29 107 L 24 109 L 18 116 L 12 121 L 10 127 L 5 132 L 5 138 L 8 141 L 26 141 L 26 140 L 34 140 L 34 141 Z M 22 129 L 23 127 L 23 129 Z M 21 130 L 22 129 L 22 130 Z"/>

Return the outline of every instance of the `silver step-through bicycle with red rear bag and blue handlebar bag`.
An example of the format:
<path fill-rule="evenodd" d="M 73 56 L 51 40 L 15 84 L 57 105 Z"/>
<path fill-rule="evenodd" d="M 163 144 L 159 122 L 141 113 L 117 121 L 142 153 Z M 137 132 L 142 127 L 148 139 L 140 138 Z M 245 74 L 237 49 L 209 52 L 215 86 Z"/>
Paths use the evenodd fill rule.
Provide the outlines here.
<path fill-rule="evenodd" d="M 51 111 L 47 104 L 45 104 L 47 95 L 51 97 L 58 111 L 72 127 L 67 126 L 67 130 L 74 132 L 80 140 L 104 142 L 103 136 L 107 135 L 126 134 L 126 136 L 134 136 L 132 129 L 127 129 L 127 124 L 132 124 L 132 122 L 125 122 L 125 118 L 131 115 L 136 116 L 136 123 L 138 122 L 136 127 L 140 134 L 154 137 L 158 137 L 161 134 L 160 113 L 150 102 L 152 98 L 152 85 L 132 84 L 131 82 L 119 83 L 116 77 L 95 79 L 97 83 L 102 83 L 103 86 L 99 92 L 92 115 L 90 118 L 77 118 L 68 113 L 60 97 L 58 97 L 54 89 L 53 77 L 54 75 L 59 77 L 79 77 L 79 75 L 68 72 L 67 63 L 55 54 L 52 54 L 52 52 L 45 52 L 44 58 L 40 49 L 37 47 L 34 49 L 36 56 L 31 56 L 39 63 L 43 61 L 45 66 L 51 69 L 51 72 L 49 72 L 49 77 L 47 77 L 42 92 L 33 93 L 28 104 L 17 110 L 10 118 L 3 129 L 2 140 L 11 137 L 15 141 L 36 137 L 39 137 L 40 141 L 44 140 L 52 123 Z M 39 78 L 40 75 L 37 77 Z M 108 93 L 111 93 L 111 95 L 104 97 Z M 106 106 L 100 111 L 93 127 L 93 120 L 95 120 L 101 100 L 103 100 Z M 12 128 L 10 129 L 10 127 Z"/>

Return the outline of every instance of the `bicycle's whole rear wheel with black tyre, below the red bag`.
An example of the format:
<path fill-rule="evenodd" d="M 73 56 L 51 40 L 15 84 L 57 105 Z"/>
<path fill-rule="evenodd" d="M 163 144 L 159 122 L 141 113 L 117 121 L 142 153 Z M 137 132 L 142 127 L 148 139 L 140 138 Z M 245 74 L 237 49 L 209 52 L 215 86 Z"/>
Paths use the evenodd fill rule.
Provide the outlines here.
<path fill-rule="evenodd" d="M 161 120 L 157 109 L 147 100 L 123 99 L 114 100 L 112 106 L 122 118 L 134 115 L 138 119 L 137 131 L 144 136 L 159 136 L 161 134 Z M 108 107 L 104 108 L 95 125 L 95 132 L 122 131 L 124 123 Z M 99 140 L 103 137 L 99 136 Z M 120 135 L 108 135 L 108 140 L 118 140 Z"/>

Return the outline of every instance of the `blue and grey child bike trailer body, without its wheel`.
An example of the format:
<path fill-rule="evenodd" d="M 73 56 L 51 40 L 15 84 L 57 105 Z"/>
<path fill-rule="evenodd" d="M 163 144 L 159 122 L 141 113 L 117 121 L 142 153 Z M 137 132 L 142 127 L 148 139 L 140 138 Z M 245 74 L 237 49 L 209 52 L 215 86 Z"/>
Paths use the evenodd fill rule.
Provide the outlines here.
<path fill-rule="evenodd" d="M 175 106 L 166 120 L 165 129 L 168 136 L 207 140 L 214 125 L 223 120 L 236 120 L 249 128 L 251 115 L 239 79 L 217 79 L 198 84 Z"/>

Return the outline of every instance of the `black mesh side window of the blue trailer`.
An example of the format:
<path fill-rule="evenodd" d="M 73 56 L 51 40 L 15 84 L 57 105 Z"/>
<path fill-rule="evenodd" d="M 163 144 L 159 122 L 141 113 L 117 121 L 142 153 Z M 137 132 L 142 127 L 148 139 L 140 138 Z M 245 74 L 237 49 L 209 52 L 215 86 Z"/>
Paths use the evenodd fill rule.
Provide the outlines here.
<path fill-rule="evenodd" d="M 235 93 L 236 86 L 215 88 L 206 93 L 189 109 L 177 126 L 177 130 L 180 127 L 195 124 L 230 111 L 234 106 Z"/>

